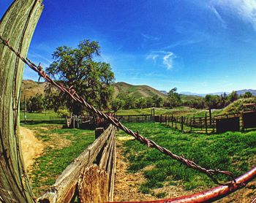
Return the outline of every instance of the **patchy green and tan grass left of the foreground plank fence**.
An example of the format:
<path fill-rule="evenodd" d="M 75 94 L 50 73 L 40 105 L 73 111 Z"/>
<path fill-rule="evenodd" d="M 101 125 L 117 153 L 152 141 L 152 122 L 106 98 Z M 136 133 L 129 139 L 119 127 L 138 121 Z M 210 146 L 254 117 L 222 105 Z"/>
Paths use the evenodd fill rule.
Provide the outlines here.
<path fill-rule="evenodd" d="M 29 177 L 36 196 L 48 190 L 61 172 L 94 142 L 94 131 L 62 129 L 58 124 L 22 125 L 34 131 L 45 148 L 36 159 Z"/>

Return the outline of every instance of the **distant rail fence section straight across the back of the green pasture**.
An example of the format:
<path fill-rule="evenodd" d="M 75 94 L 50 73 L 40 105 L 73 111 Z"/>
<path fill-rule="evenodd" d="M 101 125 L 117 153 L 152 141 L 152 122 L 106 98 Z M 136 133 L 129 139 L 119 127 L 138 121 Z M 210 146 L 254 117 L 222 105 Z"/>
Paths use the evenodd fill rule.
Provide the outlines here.
<path fill-rule="evenodd" d="M 155 116 L 148 115 L 115 115 L 115 118 L 122 123 L 151 123 L 155 121 Z"/>

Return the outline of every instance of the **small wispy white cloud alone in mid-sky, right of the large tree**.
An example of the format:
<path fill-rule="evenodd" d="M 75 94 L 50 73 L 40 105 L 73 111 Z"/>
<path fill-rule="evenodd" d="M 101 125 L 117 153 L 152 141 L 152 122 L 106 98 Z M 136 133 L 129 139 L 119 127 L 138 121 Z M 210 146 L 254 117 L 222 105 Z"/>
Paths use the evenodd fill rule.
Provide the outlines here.
<path fill-rule="evenodd" d="M 154 63 L 159 62 L 164 65 L 167 70 L 173 69 L 173 61 L 176 55 L 170 51 L 154 51 L 146 55 L 146 60 L 152 60 Z"/>

